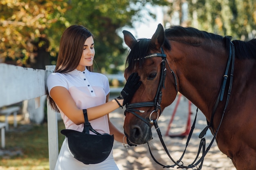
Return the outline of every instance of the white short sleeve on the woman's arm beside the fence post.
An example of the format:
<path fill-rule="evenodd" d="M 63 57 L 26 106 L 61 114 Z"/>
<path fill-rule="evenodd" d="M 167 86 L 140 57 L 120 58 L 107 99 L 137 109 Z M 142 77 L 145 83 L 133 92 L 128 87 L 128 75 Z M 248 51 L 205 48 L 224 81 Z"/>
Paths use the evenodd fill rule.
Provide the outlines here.
<path fill-rule="evenodd" d="M 52 73 L 47 78 L 47 89 L 49 93 L 52 88 L 56 86 L 62 86 L 68 89 L 67 81 L 65 80 L 65 77 L 61 75 L 61 73 Z"/>

